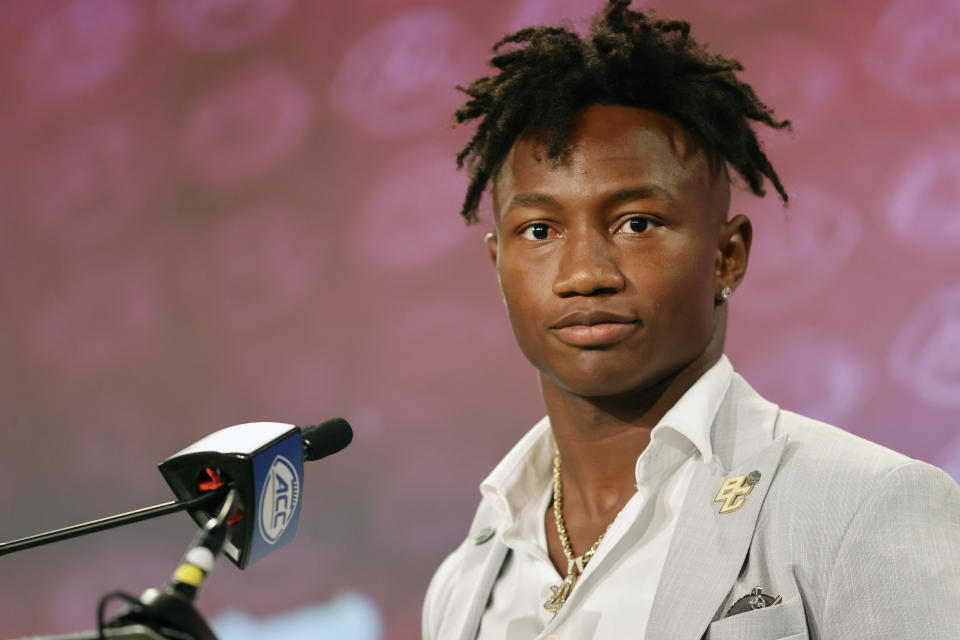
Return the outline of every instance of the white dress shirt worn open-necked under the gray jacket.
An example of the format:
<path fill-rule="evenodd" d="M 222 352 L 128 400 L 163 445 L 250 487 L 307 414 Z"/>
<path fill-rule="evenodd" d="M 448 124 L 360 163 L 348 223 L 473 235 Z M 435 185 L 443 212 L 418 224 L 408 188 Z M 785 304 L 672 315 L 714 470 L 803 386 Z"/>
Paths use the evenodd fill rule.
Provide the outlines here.
<path fill-rule="evenodd" d="M 541 420 L 480 485 L 503 510 L 497 535 L 511 553 L 494 585 L 478 640 L 642 638 L 673 537 L 699 461 L 712 457 L 710 428 L 733 367 L 721 356 L 651 432 L 637 458 L 635 493 L 607 531 L 570 597 L 554 615 L 544 609 L 562 582 L 547 555 L 544 514 L 553 496 L 556 444 Z"/>

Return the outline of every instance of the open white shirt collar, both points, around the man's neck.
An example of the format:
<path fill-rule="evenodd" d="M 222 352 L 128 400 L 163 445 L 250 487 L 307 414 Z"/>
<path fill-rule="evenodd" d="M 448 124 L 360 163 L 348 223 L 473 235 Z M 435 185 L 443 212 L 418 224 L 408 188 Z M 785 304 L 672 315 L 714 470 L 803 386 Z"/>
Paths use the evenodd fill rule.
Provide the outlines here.
<path fill-rule="evenodd" d="M 651 432 L 651 441 L 665 436 L 670 429 L 692 443 L 704 462 L 713 458 L 710 431 L 733 378 L 733 366 L 727 356 L 720 359 L 680 397 Z M 519 509 L 529 507 L 543 492 L 551 477 L 556 444 L 550 419 L 541 419 L 527 432 L 480 484 L 484 497 L 494 498 L 510 520 Z"/>

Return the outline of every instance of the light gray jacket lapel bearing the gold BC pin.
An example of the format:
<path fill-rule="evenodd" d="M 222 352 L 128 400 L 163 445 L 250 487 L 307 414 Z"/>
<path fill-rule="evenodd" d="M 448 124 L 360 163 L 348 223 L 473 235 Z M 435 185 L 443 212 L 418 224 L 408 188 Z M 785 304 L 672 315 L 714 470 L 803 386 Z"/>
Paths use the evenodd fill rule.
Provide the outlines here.
<path fill-rule="evenodd" d="M 760 508 L 783 455 L 772 439 L 778 408 L 735 375 L 714 421 L 714 458 L 694 474 L 680 511 L 647 623 L 646 637 L 696 640 L 723 605 L 746 558 Z M 724 481 L 759 473 L 742 506 L 720 513 Z M 746 483 L 732 481 L 730 488 Z"/>

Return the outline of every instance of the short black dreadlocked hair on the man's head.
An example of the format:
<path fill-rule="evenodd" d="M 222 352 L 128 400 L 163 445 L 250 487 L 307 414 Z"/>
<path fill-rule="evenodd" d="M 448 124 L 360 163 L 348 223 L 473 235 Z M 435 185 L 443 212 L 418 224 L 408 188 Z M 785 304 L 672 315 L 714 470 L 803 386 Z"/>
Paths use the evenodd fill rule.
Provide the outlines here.
<path fill-rule="evenodd" d="M 609 0 L 589 35 L 564 27 L 530 27 L 493 45 L 495 75 L 457 89 L 469 99 L 458 124 L 480 118 L 476 133 L 457 154 L 470 171 L 460 215 L 477 221 L 477 207 L 516 139 L 535 136 L 547 157 L 561 162 L 577 111 L 592 104 L 651 109 L 679 121 L 714 160 L 732 166 L 750 190 L 764 195 L 770 180 L 786 203 L 787 192 L 751 128 L 778 121 L 750 85 L 734 74 L 743 66 L 708 53 L 690 37 L 690 24 L 630 10 L 630 0 Z"/>

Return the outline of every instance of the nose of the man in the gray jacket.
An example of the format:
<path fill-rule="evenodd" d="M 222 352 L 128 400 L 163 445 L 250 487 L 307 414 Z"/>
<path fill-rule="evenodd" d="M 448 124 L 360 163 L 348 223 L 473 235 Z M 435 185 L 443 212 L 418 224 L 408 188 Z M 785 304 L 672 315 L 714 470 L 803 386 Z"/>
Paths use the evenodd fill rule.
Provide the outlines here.
<path fill-rule="evenodd" d="M 568 233 L 553 283 L 556 295 L 616 293 L 623 290 L 624 283 L 611 238 L 599 230 Z"/>

